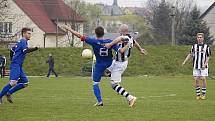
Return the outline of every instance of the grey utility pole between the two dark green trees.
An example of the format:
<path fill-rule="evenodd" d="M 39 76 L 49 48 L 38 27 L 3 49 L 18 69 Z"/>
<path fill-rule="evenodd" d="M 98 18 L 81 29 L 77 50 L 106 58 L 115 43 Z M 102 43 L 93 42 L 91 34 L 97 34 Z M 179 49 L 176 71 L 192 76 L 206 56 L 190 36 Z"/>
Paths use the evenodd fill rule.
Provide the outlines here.
<path fill-rule="evenodd" d="M 175 41 L 175 6 L 172 6 L 171 8 L 171 14 L 170 14 L 171 18 L 172 18 L 172 45 L 176 44 Z"/>

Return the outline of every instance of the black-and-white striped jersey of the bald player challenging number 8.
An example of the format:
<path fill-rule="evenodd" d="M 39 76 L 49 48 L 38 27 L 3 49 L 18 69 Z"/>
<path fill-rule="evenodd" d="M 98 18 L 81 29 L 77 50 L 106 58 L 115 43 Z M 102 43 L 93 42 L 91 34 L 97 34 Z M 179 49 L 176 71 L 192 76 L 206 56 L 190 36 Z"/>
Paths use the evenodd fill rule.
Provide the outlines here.
<path fill-rule="evenodd" d="M 130 34 L 127 34 L 122 37 L 124 39 L 129 39 L 129 40 L 125 40 L 125 41 L 132 42 L 132 45 L 135 44 L 135 41 Z M 120 48 L 123 48 L 125 46 L 125 43 L 119 43 L 118 45 L 120 46 Z M 120 62 L 124 62 L 124 61 L 128 60 L 128 58 L 131 55 L 131 49 L 132 49 L 132 47 L 129 47 L 124 53 L 116 52 L 115 60 L 120 61 Z"/>

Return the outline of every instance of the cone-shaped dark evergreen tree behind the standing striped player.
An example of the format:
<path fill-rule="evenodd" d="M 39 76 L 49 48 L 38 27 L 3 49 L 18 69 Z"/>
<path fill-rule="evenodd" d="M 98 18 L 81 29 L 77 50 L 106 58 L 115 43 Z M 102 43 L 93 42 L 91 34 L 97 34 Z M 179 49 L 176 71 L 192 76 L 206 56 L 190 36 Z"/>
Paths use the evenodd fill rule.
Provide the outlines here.
<path fill-rule="evenodd" d="M 212 37 L 210 36 L 209 27 L 204 20 L 200 18 L 200 11 L 197 6 L 190 12 L 190 17 L 186 22 L 186 26 L 183 29 L 183 35 L 178 40 L 179 44 L 194 44 L 196 42 L 196 34 L 204 33 L 205 42 L 212 43 Z"/>

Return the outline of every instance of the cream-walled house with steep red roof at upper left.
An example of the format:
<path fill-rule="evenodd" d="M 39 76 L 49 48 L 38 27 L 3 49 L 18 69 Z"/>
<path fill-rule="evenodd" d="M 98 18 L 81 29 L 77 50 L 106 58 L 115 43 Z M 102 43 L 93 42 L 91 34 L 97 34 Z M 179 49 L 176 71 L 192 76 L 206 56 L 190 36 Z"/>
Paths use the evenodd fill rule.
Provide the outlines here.
<path fill-rule="evenodd" d="M 29 46 L 39 47 L 81 47 L 83 43 L 72 39 L 58 25 L 75 24 L 83 33 L 84 19 L 75 13 L 63 0 L 7 0 L 7 13 L 0 20 L 0 41 L 17 41 L 23 27 L 32 28 Z M 5 39 L 5 38 L 12 38 Z"/>

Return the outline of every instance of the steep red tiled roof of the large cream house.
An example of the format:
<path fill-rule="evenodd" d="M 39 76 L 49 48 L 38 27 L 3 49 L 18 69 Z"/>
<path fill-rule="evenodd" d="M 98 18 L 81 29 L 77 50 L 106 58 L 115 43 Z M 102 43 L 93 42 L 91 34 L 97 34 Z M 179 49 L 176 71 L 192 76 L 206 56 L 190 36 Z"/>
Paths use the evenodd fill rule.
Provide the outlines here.
<path fill-rule="evenodd" d="M 62 0 L 14 0 L 15 3 L 30 17 L 30 19 L 45 33 L 55 34 L 56 24 L 53 22 L 69 21 L 76 15 L 76 21 L 83 22 L 83 18 L 72 11 Z M 73 19 L 74 20 L 74 19 Z M 58 29 L 60 34 L 64 34 Z"/>

